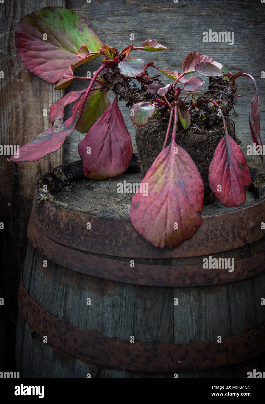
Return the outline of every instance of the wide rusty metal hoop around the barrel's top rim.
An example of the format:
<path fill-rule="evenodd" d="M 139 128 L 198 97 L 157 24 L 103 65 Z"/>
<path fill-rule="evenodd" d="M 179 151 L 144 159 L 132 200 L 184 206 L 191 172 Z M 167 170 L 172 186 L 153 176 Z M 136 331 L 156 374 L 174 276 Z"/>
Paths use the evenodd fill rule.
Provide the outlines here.
<path fill-rule="evenodd" d="M 223 215 L 202 218 L 192 238 L 175 248 L 146 241 L 129 219 L 105 218 L 65 208 L 61 202 L 34 201 L 31 220 L 51 240 L 87 252 L 135 258 L 176 258 L 211 255 L 242 247 L 265 237 L 265 199 Z M 91 229 L 87 229 L 87 223 Z M 265 242 L 265 239 L 264 239 Z"/>

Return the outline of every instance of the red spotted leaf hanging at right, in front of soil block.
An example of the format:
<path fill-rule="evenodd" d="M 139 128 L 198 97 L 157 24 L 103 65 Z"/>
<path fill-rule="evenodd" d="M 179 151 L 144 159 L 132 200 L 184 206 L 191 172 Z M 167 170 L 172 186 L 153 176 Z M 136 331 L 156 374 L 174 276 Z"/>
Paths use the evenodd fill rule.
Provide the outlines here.
<path fill-rule="evenodd" d="M 224 206 L 240 206 L 246 200 L 250 172 L 240 147 L 227 134 L 218 143 L 209 166 L 209 185 Z M 220 188 L 221 185 L 221 188 Z"/>

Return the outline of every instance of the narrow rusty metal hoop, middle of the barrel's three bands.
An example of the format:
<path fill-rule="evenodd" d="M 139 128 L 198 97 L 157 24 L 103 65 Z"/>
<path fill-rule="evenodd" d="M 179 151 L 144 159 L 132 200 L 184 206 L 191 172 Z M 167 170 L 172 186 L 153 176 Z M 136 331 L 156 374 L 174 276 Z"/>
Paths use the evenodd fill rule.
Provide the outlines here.
<path fill-rule="evenodd" d="M 29 222 L 28 238 L 33 247 L 52 262 L 82 274 L 116 282 L 146 286 L 207 286 L 237 282 L 265 272 L 265 252 L 234 262 L 234 271 L 203 269 L 202 265 L 146 265 L 90 255 L 58 244 Z M 133 259 L 134 257 L 131 257 Z"/>

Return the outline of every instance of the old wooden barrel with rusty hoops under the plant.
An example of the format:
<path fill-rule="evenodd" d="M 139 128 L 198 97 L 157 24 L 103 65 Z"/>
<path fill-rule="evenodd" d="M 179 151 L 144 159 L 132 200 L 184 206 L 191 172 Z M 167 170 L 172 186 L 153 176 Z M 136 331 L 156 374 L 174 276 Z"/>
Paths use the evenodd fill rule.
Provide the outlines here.
<path fill-rule="evenodd" d="M 117 183 L 139 173 L 90 181 L 73 162 L 42 177 L 18 295 L 21 377 L 264 371 L 265 176 L 250 171 L 244 205 L 205 206 L 176 248 L 152 246 L 131 225 L 132 195 Z M 210 257 L 234 259 L 234 271 L 204 269 Z"/>

